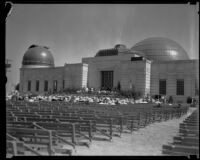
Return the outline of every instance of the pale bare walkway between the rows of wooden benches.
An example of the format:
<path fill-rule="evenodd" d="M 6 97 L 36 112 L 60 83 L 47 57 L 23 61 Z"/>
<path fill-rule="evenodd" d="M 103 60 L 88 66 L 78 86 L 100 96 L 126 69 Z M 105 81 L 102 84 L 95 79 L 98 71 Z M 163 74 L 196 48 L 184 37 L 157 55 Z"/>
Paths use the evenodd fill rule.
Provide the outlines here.
<path fill-rule="evenodd" d="M 123 133 L 121 138 L 114 137 L 112 142 L 93 141 L 90 148 L 77 147 L 74 155 L 162 155 L 162 145 L 173 141 L 178 135 L 179 124 L 194 110 L 190 108 L 187 115 L 179 119 L 151 124 L 132 135 Z"/>

